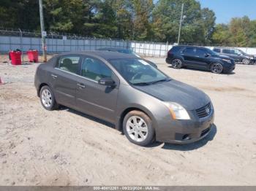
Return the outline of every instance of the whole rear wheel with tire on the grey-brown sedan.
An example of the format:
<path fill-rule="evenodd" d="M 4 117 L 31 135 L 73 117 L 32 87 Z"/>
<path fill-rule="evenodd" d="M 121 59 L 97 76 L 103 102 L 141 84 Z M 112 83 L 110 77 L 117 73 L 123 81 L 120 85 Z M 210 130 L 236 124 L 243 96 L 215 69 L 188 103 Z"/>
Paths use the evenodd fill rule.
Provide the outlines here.
<path fill-rule="evenodd" d="M 39 95 L 42 106 L 48 111 L 52 111 L 59 107 L 59 104 L 56 103 L 53 91 L 48 85 L 41 88 Z"/>

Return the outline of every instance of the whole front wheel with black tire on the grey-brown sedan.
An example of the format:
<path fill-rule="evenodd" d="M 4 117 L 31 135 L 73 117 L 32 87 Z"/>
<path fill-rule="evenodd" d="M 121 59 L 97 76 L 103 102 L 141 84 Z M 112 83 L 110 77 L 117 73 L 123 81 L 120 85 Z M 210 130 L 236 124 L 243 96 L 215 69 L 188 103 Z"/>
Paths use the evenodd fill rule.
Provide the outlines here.
<path fill-rule="evenodd" d="M 155 140 L 151 119 L 140 111 L 131 111 L 124 117 L 123 130 L 130 142 L 142 147 L 152 144 Z"/>

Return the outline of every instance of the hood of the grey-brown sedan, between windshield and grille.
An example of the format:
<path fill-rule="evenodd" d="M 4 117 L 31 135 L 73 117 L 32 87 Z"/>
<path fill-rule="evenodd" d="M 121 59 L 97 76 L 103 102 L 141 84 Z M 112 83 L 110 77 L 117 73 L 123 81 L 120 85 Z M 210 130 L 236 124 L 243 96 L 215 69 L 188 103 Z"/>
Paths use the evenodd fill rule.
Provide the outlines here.
<path fill-rule="evenodd" d="M 172 101 L 181 104 L 188 110 L 199 109 L 211 101 L 203 91 L 174 79 L 154 85 L 135 86 L 135 88 L 161 101 Z"/>

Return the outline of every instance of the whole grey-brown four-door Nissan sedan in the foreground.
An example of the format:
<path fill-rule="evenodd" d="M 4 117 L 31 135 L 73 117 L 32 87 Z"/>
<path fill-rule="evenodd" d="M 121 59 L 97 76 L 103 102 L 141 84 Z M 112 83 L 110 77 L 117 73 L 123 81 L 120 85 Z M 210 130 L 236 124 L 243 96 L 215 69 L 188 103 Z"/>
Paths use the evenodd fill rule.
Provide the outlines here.
<path fill-rule="evenodd" d="M 186 144 L 214 125 L 211 99 L 167 77 L 150 63 L 116 52 L 68 52 L 37 68 L 34 85 L 42 106 L 59 104 L 115 124 L 134 144 L 155 140 Z"/>

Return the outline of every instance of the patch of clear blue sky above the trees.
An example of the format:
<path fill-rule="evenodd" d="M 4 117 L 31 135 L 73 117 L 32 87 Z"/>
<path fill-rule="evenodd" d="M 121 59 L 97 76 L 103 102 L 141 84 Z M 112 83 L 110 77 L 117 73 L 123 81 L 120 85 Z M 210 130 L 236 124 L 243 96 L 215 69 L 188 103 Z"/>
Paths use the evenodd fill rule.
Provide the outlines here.
<path fill-rule="evenodd" d="M 215 12 L 216 23 L 229 23 L 232 17 L 248 16 L 256 20 L 256 0 L 198 0 L 201 7 Z"/>

